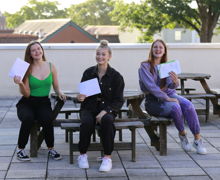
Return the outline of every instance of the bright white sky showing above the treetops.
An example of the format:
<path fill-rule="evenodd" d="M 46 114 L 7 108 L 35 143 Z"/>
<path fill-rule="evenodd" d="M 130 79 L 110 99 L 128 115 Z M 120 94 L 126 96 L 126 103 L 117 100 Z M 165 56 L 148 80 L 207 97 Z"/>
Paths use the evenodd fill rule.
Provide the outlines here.
<path fill-rule="evenodd" d="M 1 0 L 3 1 L 3 0 Z M 40 0 L 39 0 L 40 1 Z M 53 0 L 51 0 L 53 1 Z M 67 8 L 69 7 L 71 4 L 77 4 L 77 3 L 81 3 L 83 1 L 86 0 L 57 0 L 60 3 L 60 8 Z M 139 2 L 140 0 L 124 0 L 126 2 Z M 0 5 L 0 11 L 3 13 L 5 11 L 9 12 L 9 13 L 15 13 L 16 11 L 19 11 L 19 9 L 26 5 L 28 2 L 28 0 L 4 0 L 4 2 L 1 2 Z"/>

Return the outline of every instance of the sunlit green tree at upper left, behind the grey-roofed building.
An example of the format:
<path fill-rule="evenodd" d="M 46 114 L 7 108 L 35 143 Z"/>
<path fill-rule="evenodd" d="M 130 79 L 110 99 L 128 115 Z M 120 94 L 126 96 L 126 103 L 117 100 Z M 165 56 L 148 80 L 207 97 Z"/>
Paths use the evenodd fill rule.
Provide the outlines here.
<path fill-rule="evenodd" d="M 29 0 L 26 6 L 23 6 L 18 12 L 14 14 L 4 13 L 6 17 L 7 26 L 14 28 L 25 20 L 29 19 L 52 19 L 66 17 L 65 10 L 59 10 L 59 3 L 57 1 L 37 1 Z"/>

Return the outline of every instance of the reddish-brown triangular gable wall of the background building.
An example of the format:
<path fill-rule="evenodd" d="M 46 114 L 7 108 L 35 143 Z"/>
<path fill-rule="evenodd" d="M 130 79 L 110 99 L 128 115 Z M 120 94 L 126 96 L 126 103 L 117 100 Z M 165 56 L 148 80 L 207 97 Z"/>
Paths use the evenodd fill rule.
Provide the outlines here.
<path fill-rule="evenodd" d="M 47 43 L 92 43 L 94 40 L 90 39 L 84 33 L 80 32 L 73 26 L 67 26 L 62 31 L 53 35 L 48 39 Z"/>

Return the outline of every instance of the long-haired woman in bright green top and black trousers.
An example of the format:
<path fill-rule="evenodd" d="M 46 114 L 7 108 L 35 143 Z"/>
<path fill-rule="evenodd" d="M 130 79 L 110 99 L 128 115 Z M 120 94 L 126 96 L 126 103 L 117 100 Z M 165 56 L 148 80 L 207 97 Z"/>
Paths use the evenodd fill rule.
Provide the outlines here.
<path fill-rule="evenodd" d="M 29 161 L 25 153 L 31 127 L 38 121 L 43 127 L 45 142 L 49 155 L 55 159 L 61 159 L 61 155 L 54 150 L 54 130 L 52 123 L 52 108 L 48 98 L 51 85 L 61 99 L 65 96 L 59 89 L 57 71 L 53 64 L 46 62 L 43 47 L 39 42 L 31 42 L 25 51 L 25 61 L 30 63 L 29 69 L 23 78 L 14 77 L 18 84 L 22 98 L 17 103 L 17 115 L 21 121 L 18 137 L 17 158 L 21 161 Z"/>

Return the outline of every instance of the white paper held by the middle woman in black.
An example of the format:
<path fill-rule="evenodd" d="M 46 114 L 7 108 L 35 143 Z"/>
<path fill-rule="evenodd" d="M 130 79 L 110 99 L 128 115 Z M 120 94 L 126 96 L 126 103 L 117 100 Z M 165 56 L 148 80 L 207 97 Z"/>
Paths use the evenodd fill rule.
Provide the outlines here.
<path fill-rule="evenodd" d="M 79 93 L 86 96 L 92 96 L 101 93 L 97 78 L 90 79 L 79 84 Z"/>

